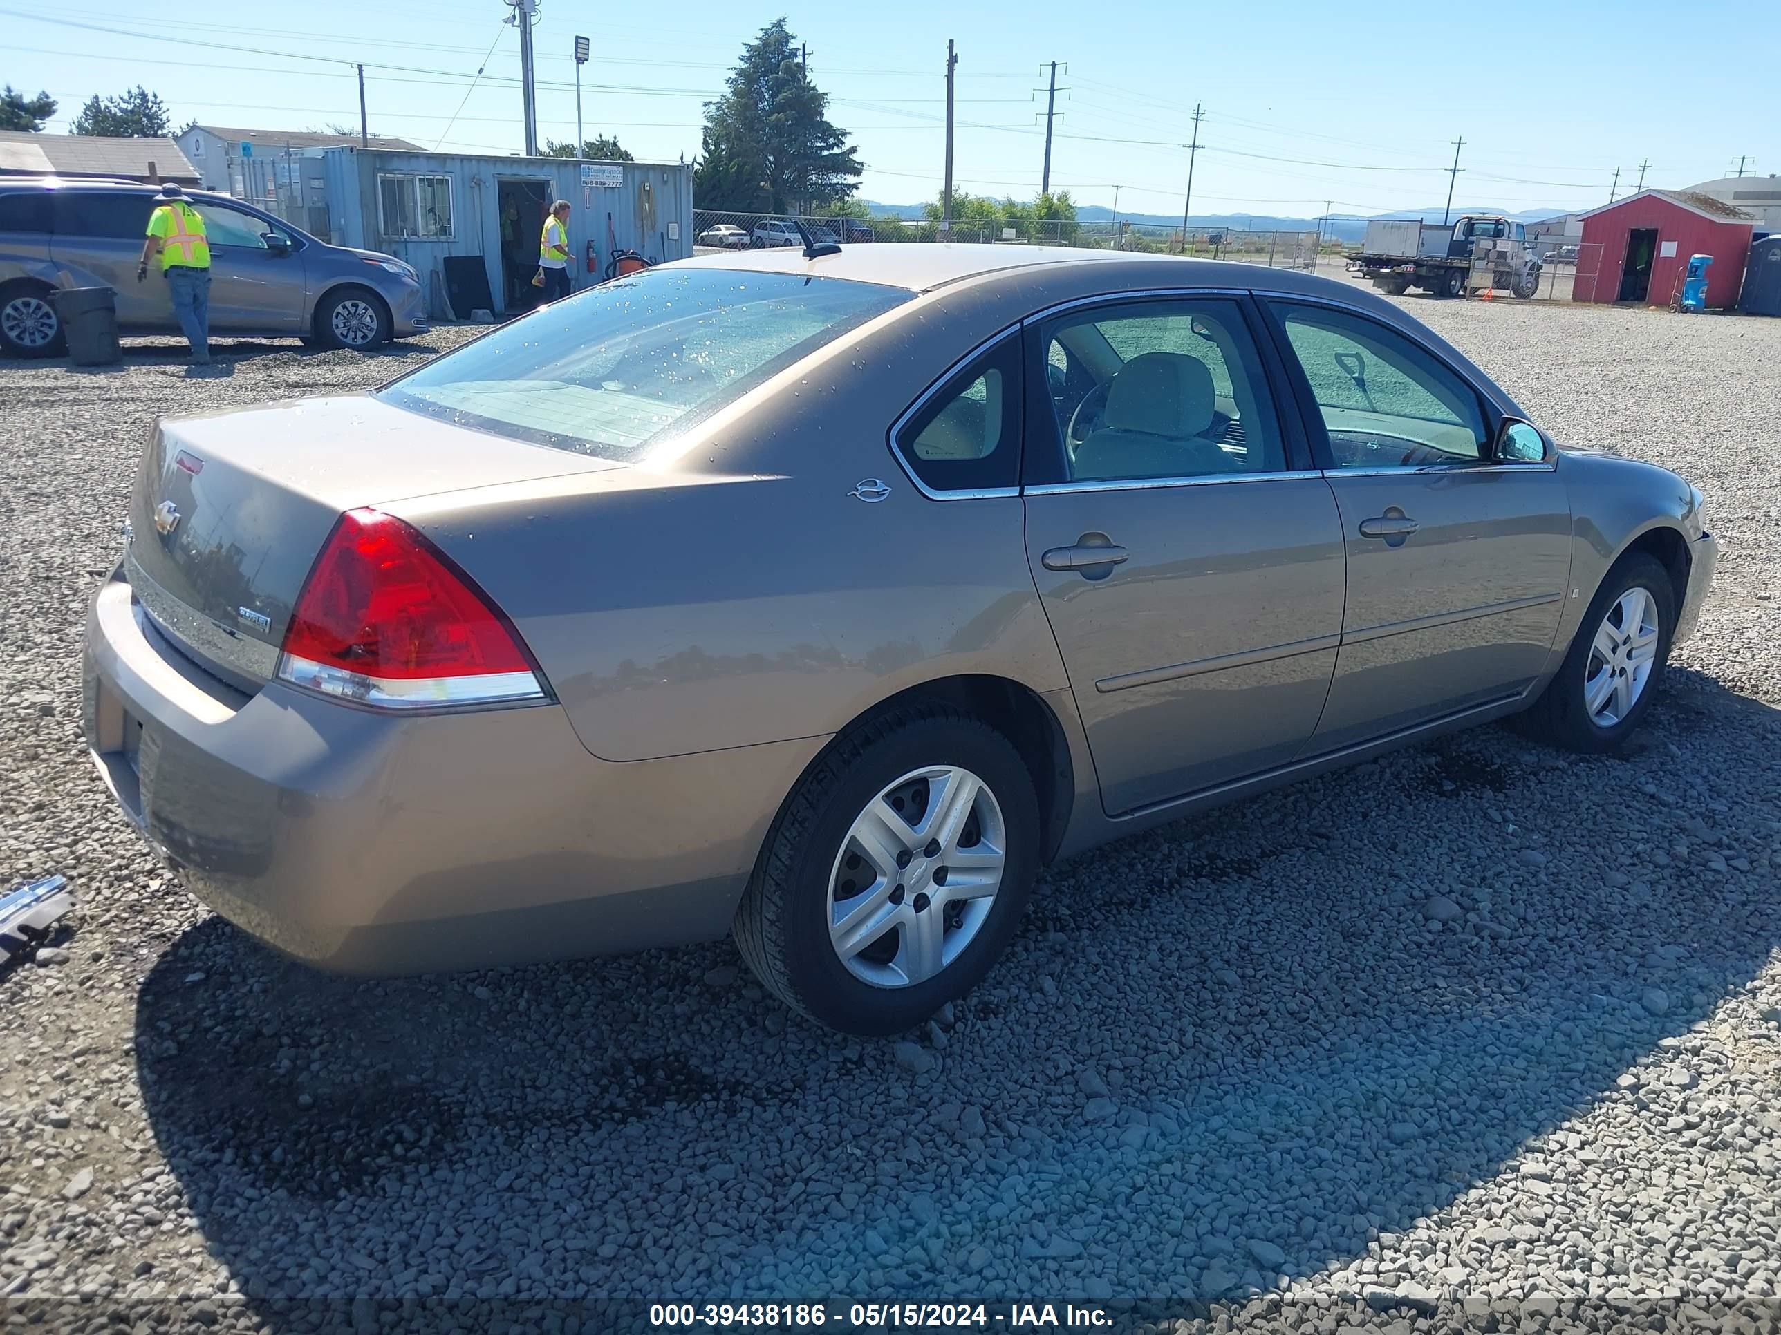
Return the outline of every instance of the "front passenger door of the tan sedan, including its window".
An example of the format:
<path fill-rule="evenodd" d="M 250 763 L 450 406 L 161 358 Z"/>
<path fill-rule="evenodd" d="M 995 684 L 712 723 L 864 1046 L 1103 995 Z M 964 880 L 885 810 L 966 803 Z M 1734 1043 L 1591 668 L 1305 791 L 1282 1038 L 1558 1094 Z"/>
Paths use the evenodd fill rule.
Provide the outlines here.
<path fill-rule="evenodd" d="M 1549 463 L 1491 457 L 1473 386 L 1362 315 L 1277 303 L 1316 402 L 1348 595 L 1313 749 L 1332 751 L 1525 691 L 1571 573 L 1571 509 Z"/>

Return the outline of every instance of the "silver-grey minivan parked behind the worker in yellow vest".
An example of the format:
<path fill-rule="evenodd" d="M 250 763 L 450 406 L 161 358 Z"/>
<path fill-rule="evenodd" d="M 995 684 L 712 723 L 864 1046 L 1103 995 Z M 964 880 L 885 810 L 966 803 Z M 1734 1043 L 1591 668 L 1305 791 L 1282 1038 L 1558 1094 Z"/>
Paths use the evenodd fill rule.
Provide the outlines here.
<path fill-rule="evenodd" d="M 0 180 L 0 352 L 57 356 L 52 294 L 109 287 L 118 331 L 176 335 L 159 274 L 137 281 L 155 185 Z M 329 246 L 240 199 L 189 192 L 210 237 L 210 333 L 369 349 L 426 333 L 420 276 L 390 255 Z"/>

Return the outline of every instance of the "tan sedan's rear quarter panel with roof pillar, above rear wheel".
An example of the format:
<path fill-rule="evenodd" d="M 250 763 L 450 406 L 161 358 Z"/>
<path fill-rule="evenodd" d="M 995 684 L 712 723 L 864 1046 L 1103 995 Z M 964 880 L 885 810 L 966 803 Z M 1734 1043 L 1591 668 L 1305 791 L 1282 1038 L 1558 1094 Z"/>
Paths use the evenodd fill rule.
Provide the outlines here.
<path fill-rule="evenodd" d="M 677 459 L 388 506 L 513 618 L 604 760 L 837 732 L 921 682 L 1067 685 L 1019 497 L 930 500 L 889 424 L 1006 324 L 905 308 L 762 386 Z M 878 504 L 853 498 L 867 477 Z"/>

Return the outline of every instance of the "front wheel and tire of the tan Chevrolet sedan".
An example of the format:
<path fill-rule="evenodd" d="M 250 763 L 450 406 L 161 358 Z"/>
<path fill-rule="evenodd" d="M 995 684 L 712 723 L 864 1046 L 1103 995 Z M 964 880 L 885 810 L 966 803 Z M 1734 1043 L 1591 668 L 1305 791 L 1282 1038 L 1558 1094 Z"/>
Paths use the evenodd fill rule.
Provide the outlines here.
<path fill-rule="evenodd" d="M 1601 582 L 1558 673 L 1525 717 L 1526 732 L 1567 751 L 1612 751 L 1663 685 L 1676 591 L 1655 557 L 1624 557 Z"/>

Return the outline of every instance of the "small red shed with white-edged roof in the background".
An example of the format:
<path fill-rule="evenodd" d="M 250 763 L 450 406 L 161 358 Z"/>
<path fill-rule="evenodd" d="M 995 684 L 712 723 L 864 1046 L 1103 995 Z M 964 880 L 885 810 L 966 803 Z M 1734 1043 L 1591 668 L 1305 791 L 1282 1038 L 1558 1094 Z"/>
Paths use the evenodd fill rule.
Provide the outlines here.
<path fill-rule="evenodd" d="M 1667 306 L 1690 255 L 1712 255 L 1706 304 L 1738 304 L 1754 217 L 1692 190 L 1640 190 L 1583 214 L 1573 301 Z"/>

